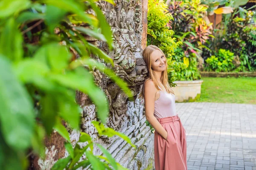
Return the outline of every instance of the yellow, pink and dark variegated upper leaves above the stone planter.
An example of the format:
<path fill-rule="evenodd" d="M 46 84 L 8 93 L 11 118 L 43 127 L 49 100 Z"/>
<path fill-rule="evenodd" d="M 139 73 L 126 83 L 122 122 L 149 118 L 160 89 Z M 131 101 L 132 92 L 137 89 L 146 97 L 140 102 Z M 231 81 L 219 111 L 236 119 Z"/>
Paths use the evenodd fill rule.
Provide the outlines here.
<path fill-rule="evenodd" d="M 183 45 L 186 52 L 198 55 L 195 51 L 200 52 L 212 34 L 211 24 L 208 25 L 204 20 L 207 8 L 201 4 L 201 0 L 174 0 L 169 4 L 168 10 L 174 20 L 170 20 L 168 25 L 175 31 L 175 37 L 186 43 Z M 189 48 L 187 43 L 190 43 Z"/>

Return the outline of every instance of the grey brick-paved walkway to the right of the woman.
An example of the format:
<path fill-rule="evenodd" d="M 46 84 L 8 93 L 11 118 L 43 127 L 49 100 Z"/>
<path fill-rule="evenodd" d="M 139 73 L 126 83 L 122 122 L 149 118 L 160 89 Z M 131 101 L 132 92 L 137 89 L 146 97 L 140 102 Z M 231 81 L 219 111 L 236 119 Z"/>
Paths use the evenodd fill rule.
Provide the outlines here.
<path fill-rule="evenodd" d="M 256 170 L 256 105 L 177 103 L 188 170 Z"/>

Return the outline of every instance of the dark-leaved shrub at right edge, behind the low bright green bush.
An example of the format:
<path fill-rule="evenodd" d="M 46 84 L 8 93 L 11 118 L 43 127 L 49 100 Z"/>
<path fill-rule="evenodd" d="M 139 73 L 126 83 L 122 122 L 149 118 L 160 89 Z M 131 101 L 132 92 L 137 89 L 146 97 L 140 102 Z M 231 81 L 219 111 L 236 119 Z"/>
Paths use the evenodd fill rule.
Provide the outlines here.
<path fill-rule="evenodd" d="M 253 71 L 256 68 L 256 28 L 250 25 L 252 17 L 250 9 L 241 7 L 236 8 L 233 14 L 224 15 L 220 29 L 215 30 L 216 38 L 209 45 L 212 51 L 223 48 L 239 56 L 241 65 L 236 71 Z M 210 56 L 208 51 L 204 51 L 204 56 Z"/>

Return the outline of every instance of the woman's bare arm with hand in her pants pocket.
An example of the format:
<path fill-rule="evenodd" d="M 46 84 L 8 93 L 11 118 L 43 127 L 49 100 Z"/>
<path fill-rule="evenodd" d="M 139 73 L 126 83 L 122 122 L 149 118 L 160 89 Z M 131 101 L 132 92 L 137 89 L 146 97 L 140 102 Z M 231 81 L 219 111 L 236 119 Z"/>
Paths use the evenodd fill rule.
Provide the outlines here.
<path fill-rule="evenodd" d="M 144 86 L 146 119 L 154 127 L 154 129 L 161 136 L 163 136 L 164 139 L 167 139 L 167 131 L 162 127 L 162 125 L 157 121 L 157 118 L 154 116 L 154 102 L 156 93 L 157 88 L 155 88 L 153 81 L 146 81 Z"/>

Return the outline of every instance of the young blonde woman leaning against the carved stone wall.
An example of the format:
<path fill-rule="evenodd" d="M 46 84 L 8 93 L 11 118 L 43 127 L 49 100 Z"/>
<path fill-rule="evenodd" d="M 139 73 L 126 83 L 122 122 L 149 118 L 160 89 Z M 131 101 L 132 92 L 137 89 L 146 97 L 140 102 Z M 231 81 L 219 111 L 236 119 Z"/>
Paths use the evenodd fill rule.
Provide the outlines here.
<path fill-rule="evenodd" d="M 167 76 L 163 51 L 148 45 L 143 51 L 149 77 L 140 97 L 145 99 L 145 114 L 154 127 L 154 161 L 156 170 L 187 170 L 186 131 L 176 113 L 175 95 Z"/>

